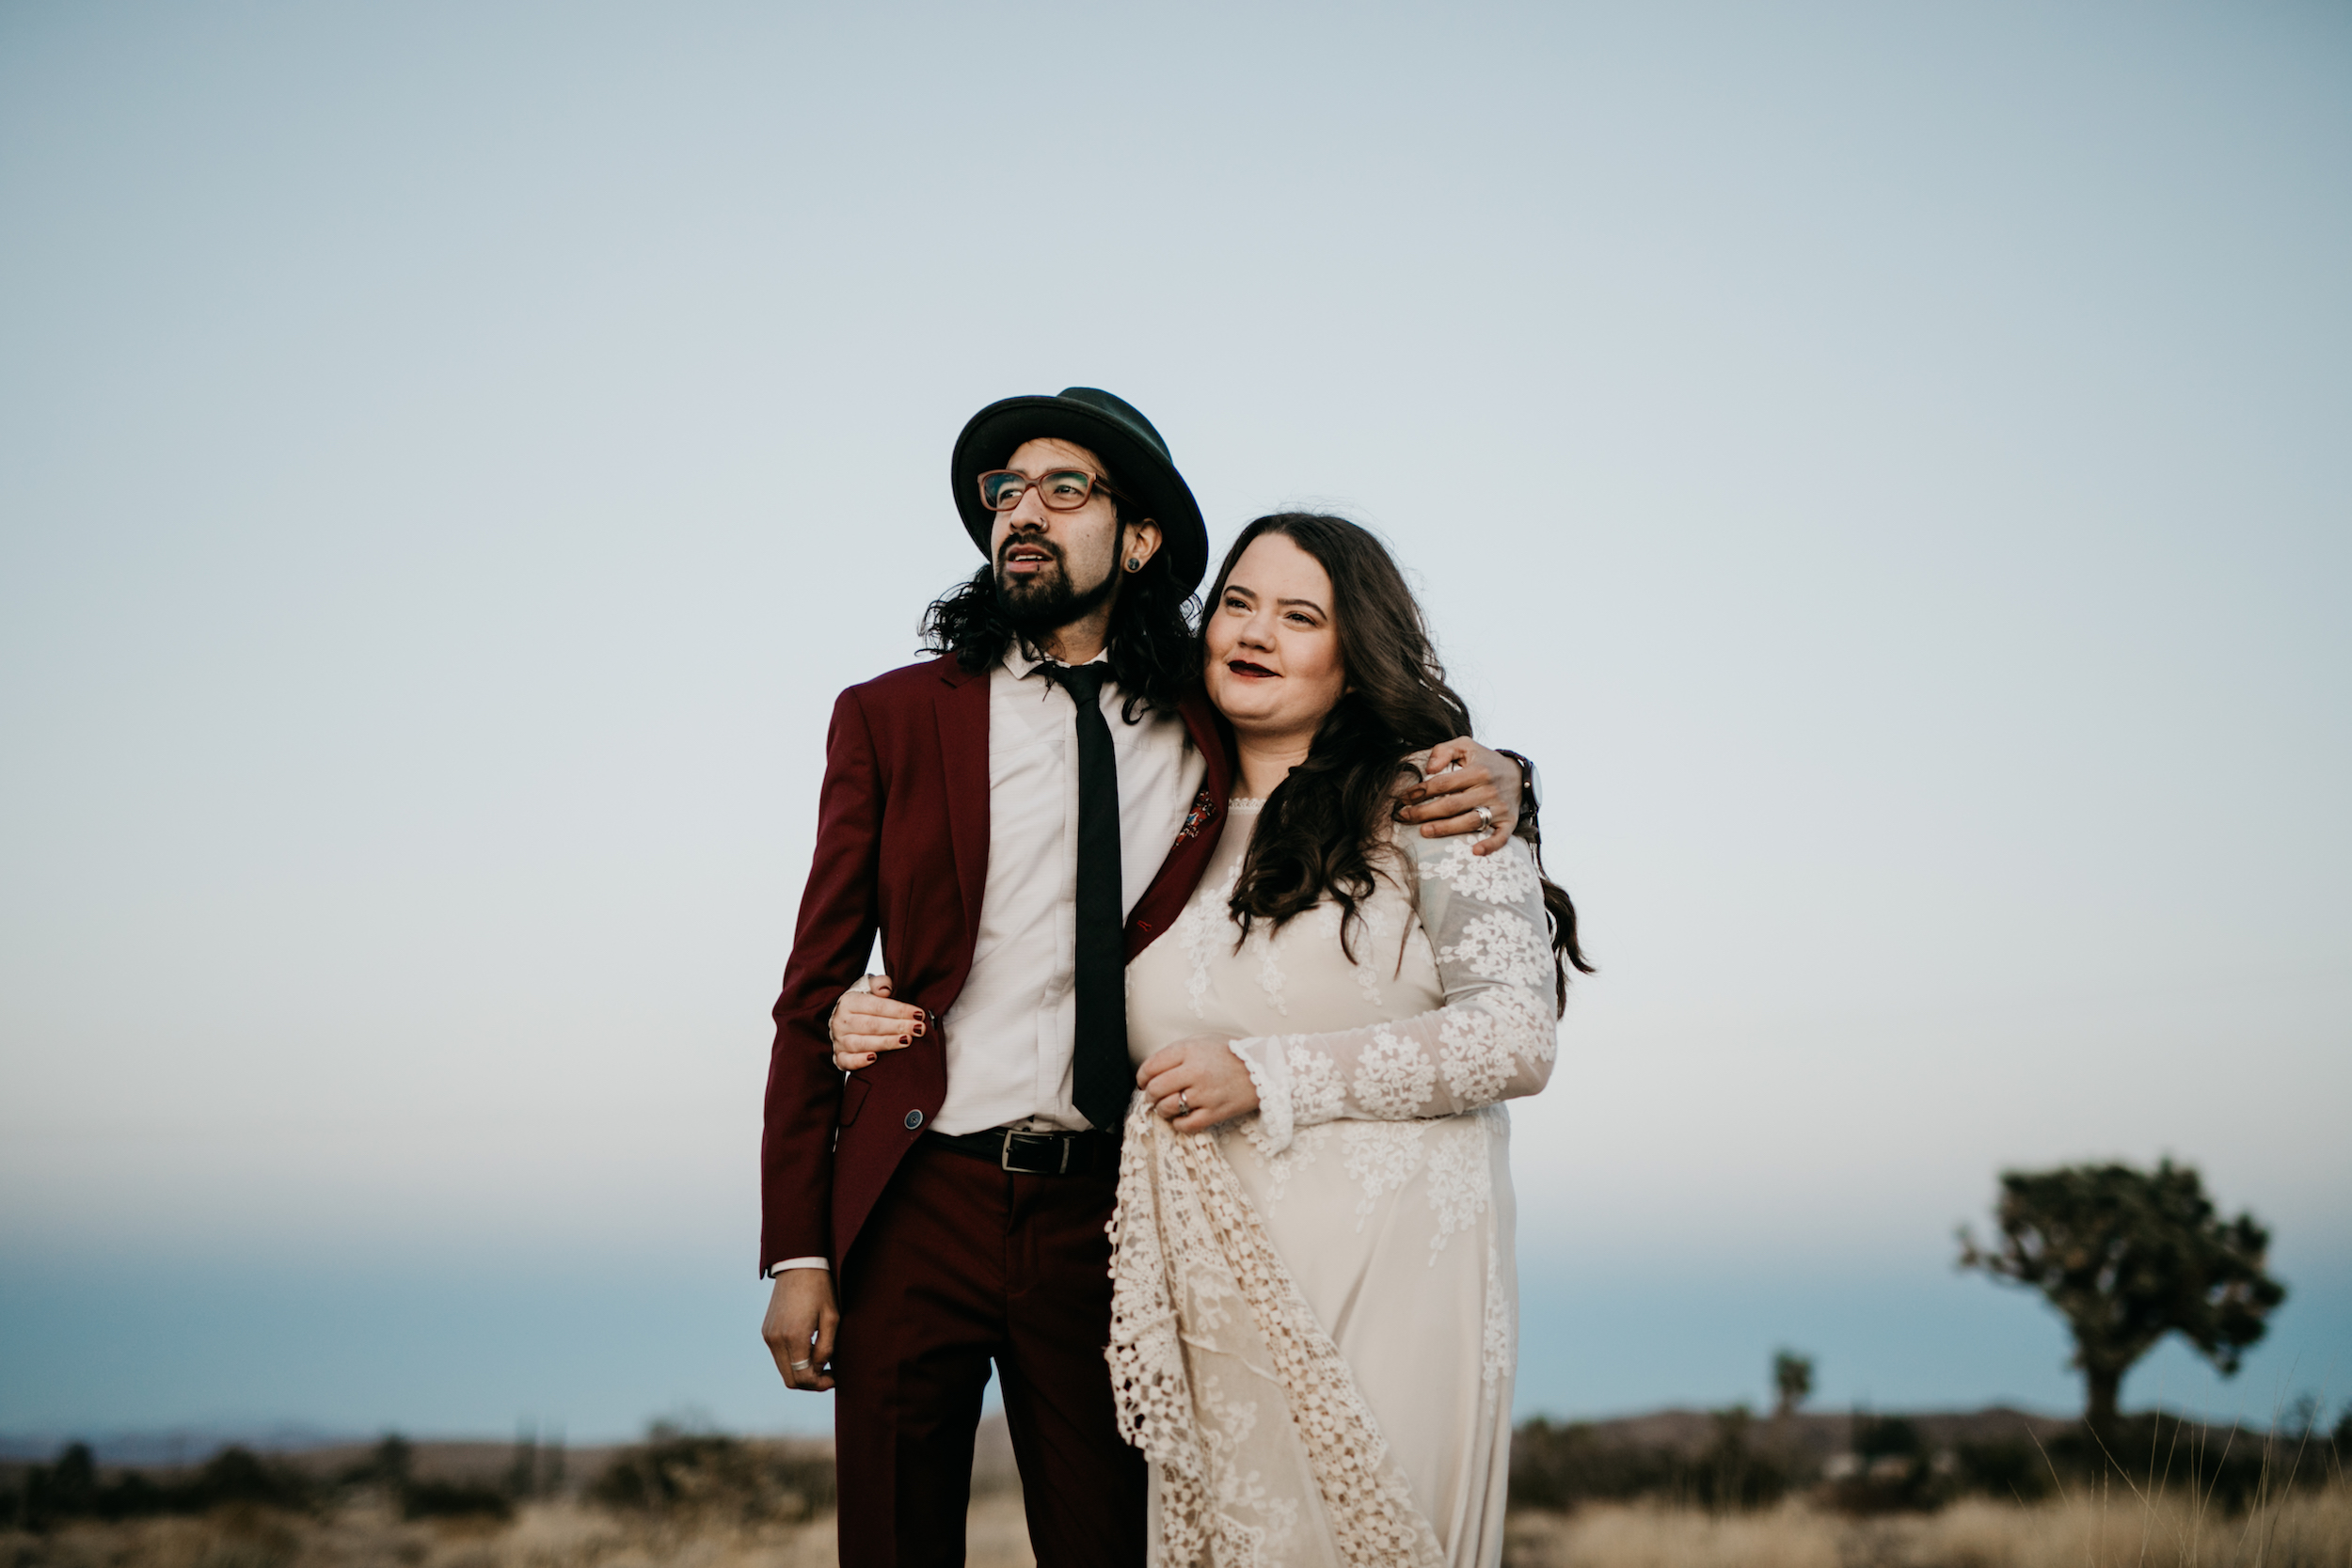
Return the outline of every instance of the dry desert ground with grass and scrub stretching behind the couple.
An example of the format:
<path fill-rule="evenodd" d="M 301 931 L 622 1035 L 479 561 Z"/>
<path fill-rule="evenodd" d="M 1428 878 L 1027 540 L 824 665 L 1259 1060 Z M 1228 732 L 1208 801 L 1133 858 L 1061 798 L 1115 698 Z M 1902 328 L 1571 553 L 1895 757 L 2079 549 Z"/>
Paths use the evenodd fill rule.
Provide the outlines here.
<path fill-rule="evenodd" d="M 2018 1425 L 2025 1422 L 2025 1425 Z M 1936 1455 L 1971 1434 L 2020 1432 L 2027 1446 L 2063 1443 L 2065 1422 L 2009 1410 L 1905 1422 L 1910 1460 L 1882 1458 L 1837 1483 L 1839 1455 L 1870 1427 L 1804 1418 L 1748 1450 L 1811 1476 L 1755 1502 L 1733 1486 L 1703 1497 L 1722 1462 L 1726 1427 L 1700 1413 L 1663 1413 L 1604 1427 L 1522 1432 L 1515 1481 L 1545 1476 L 1519 1460 L 1550 1455 L 1555 1493 L 1651 1465 L 1635 1497 L 1590 1490 L 1564 1505 L 1526 1502 L 1510 1519 L 1508 1568 L 2352 1568 L 2352 1483 L 2336 1448 L 2303 1446 L 2324 1467 L 2298 1479 L 2265 1458 L 2253 1490 L 2225 1500 L 2183 1481 L 2185 1460 L 2150 1458 L 2143 1474 L 2112 1467 L 2082 1481 L 2051 1467 L 2039 1495 L 1936 1490 Z M 1736 1429 L 1733 1429 L 1736 1432 Z M 2206 1429 L 2180 1427 L 2197 1441 Z M 1778 1441 L 1778 1448 L 1771 1443 Z M 1710 1446 L 1712 1443 L 1712 1446 Z M 1682 1469 L 1658 1469 L 1672 1455 Z M 830 1568 L 835 1516 L 830 1448 L 811 1439 L 654 1434 L 626 1448 L 550 1453 L 503 1443 L 400 1443 L 318 1448 L 259 1460 L 254 1490 L 205 1505 L 183 1493 L 172 1512 L 108 1519 L 103 1507 L 40 1519 L 0 1509 L 0 1568 Z M 1613 1455 L 1613 1458 L 1611 1458 Z M 247 1460 L 249 1465 L 254 1460 Z M 1905 1469 L 1905 1465 L 1910 1469 Z M 1616 1467 L 1616 1469 L 1611 1469 Z M 2209 1467 L 2211 1469 L 2211 1467 Z M 0 1476 L 26 1490 L 24 1465 Z M 1884 1472 L 1877 1490 L 1870 1476 Z M 1905 1481 L 1896 1472 L 1907 1474 Z M 106 1481 L 108 1472 L 99 1472 Z M 115 1483 L 125 1469 L 113 1472 Z M 195 1469 L 181 1472 L 195 1476 Z M 2218 1474 L 2218 1472 L 2216 1472 Z M 2277 1483 L 2277 1476 L 2286 1483 Z M 54 1476 L 54 1472 L 52 1472 Z M 1663 1481 L 1661 1481 L 1663 1476 Z M 1919 1490 L 1926 1486 L 1929 1490 Z M 52 1493 L 54 1495 L 54 1493 Z M 92 1493 L 94 1495 L 94 1493 Z M 118 1493 L 120 1495 L 120 1493 Z M 1515 1493 L 1517 1495 L 1517 1493 Z M 1543 1493 L 1531 1495 L 1541 1497 Z M 7 1523 L 14 1519 L 14 1526 Z M 983 1427 L 969 1512 L 971 1568 L 1025 1568 L 1028 1528 L 1002 1422 Z"/>

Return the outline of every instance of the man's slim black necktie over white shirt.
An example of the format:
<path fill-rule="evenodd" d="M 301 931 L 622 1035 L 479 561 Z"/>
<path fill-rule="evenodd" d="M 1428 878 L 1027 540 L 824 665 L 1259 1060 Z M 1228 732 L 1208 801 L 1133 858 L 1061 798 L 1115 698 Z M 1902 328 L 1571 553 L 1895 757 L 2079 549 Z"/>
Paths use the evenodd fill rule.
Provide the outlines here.
<path fill-rule="evenodd" d="M 1120 884 L 1120 757 L 1103 722 L 1108 665 L 1047 665 L 1077 703 L 1077 1041 L 1070 1100 L 1117 1131 L 1136 1070 L 1127 1060 L 1127 922 Z"/>

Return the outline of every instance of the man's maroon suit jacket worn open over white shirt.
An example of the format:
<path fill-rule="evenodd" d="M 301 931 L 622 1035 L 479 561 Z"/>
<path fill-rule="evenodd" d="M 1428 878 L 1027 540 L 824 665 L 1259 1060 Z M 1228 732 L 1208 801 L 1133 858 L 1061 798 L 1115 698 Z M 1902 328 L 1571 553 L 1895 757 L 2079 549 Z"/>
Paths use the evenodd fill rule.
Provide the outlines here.
<path fill-rule="evenodd" d="M 1129 959 L 1192 896 L 1232 797 L 1223 722 L 1200 691 L 1181 710 L 1209 773 L 1127 922 Z M 844 691 L 826 731 L 816 856 L 776 997 L 760 1138 L 762 1274 L 786 1258 L 830 1258 L 840 1272 L 898 1159 L 938 1114 L 948 1098 L 938 1020 L 971 973 L 985 884 L 988 675 L 967 675 L 950 654 Z M 924 1009 L 931 1027 L 842 1077 L 826 1020 L 866 973 L 877 929 L 891 994 Z"/>

